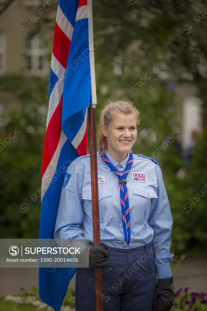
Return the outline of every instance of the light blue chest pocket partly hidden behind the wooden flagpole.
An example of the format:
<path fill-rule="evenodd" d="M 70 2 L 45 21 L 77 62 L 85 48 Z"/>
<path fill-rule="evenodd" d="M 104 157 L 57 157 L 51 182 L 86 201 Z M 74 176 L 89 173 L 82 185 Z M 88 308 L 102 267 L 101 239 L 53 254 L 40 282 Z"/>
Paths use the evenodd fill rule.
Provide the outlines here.
<path fill-rule="evenodd" d="M 91 190 L 82 194 L 83 200 L 90 200 L 91 218 L 92 218 L 92 195 Z M 99 220 L 108 222 L 112 219 L 112 195 L 111 190 L 99 190 Z"/>

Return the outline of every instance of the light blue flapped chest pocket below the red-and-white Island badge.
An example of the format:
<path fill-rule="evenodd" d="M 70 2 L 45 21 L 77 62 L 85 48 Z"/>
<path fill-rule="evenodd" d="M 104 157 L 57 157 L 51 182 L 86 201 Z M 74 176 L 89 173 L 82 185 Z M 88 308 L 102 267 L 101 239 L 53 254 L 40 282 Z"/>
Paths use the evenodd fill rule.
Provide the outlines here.
<path fill-rule="evenodd" d="M 150 216 L 151 198 L 158 198 L 152 189 L 133 188 L 135 216 L 139 221 L 147 221 Z"/>

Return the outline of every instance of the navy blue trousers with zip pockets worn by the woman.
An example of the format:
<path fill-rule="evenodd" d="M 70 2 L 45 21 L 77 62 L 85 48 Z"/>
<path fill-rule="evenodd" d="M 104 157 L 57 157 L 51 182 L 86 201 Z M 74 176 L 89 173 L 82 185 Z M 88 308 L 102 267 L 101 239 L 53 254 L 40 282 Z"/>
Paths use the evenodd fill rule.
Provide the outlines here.
<path fill-rule="evenodd" d="M 109 247 L 102 268 L 104 311 L 153 311 L 156 265 L 153 242 L 129 249 Z M 94 269 L 77 268 L 76 311 L 96 311 Z"/>

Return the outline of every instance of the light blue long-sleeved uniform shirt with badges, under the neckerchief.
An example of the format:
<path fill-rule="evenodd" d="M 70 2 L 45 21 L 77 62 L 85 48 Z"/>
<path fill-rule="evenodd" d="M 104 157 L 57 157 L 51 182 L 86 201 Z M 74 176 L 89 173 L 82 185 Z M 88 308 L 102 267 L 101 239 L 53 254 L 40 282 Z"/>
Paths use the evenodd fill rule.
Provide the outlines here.
<path fill-rule="evenodd" d="M 173 220 L 162 173 L 158 164 L 133 154 L 134 163 L 127 176 L 131 241 L 124 239 L 119 179 L 97 152 L 99 223 L 101 242 L 116 248 L 135 248 L 153 240 L 157 277 L 171 277 L 170 254 Z M 120 164 L 106 156 L 123 174 L 129 155 Z M 90 155 L 76 158 L 68 167 L 71 177 L 62 188 L 55 224 L 55 239 L 89 239 L 93 242 Z M 70 176 L 70 175 L 68 175 Z"/>

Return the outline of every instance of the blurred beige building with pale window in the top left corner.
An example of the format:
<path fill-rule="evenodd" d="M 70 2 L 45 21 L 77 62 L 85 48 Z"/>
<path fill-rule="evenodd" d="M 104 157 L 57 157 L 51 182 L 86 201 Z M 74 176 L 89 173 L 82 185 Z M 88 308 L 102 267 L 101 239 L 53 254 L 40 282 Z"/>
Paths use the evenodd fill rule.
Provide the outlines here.
<path fill-rule="evenodd" d="M 4 0 L 0 3 L 2 8 Z M 39 0 L 15 0 L 0 15 L 0 75 L 48 75 L 46 34 L 37 32 L 33 38 L 30 36 L 52 9 L 47 4 L 40 6 Z"/>

